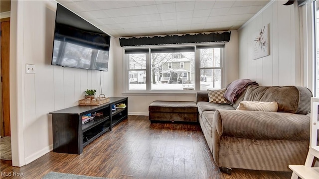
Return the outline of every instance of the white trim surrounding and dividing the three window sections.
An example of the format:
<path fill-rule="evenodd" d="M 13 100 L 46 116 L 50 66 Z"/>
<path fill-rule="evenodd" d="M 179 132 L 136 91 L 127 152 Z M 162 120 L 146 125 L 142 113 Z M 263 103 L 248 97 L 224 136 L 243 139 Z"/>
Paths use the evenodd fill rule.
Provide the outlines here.
<path fill-rule="evenodd" d="M 172 95 L 172 96 L 195 96 L 196 93 L 198 91 L 203 91 L 200 90 L 200 60 L 196 60 L 196 56 L 199 54 L 196 53 L 196 46 L 197 45 L 211 45 L 211 46 L 218 46 L 218 45 L 225 45 L 224 42 L 221 43 L 200 43 L 200 44 L 172 44 L 172 45 L 160 45 L 160 46 L 156 46 L 156 45 L 147 45 L 147 46 L 135 46 L 135 47 L 126 47 L 126 48 L 122 48 L 122 69 L 124 71 L 124 75 L 123 75 L 123 91 L 122 94 L 123 95 L 161 95 L 161 94 L 165 94 L 165 95 Z M 126 59 L 126 54 L 125 49 L 140 49 L 140 48 L 150 48 L 149 49 L 149 53 L 147 54 L 147 59 L 150 59 L 150 53 L 151 53 L 151 48 L 166 48 L 166 47 L 189 47 L 189 46 L 194 46 L 195 49 L 195 62 L 194 62 L 194 68 L 195 68 L 195 84 L 194 84 L 194 90 L 151 90 L 151 77 L 150 77 L 150 73 L 151 73 L 151 64 L 150 61 L 147 60 L 146 61 L 146 66 L 149 68 L 146 68 L 146 90 L 129 90 L 129 78 L 128 77 L 128 65 L 129 63 L 127 63 L 127 59 Z M 226 45 L 224 47 L 223 53 L 220 54 L 221 55 L 221 76 L 222 76 L 222 80 L 221 80 L 221 88 L 225 87 L 225 82 L 227 80 L 227 74 L 225 74 L 225 71 L 227 69 L 227 67 L 225 66 L 225 57 L 226 57 Z M 198 67 L 198 69 L 197 69 Z"/>

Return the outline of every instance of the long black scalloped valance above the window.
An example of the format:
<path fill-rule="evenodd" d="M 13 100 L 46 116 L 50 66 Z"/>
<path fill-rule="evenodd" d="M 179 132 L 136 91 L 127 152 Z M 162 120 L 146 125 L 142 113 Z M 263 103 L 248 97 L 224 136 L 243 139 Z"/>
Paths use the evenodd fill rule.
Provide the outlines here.
<path fill-rule="evenodd" d="M 194 35 L 166 35 L 164 37 L 131 37 L 120 38 L 121 47 L 141 46 L 141 45 L 163 45 L 163 44 L 183 44 L 183 43 L 201 43 L 201 42 L 229 42 L 230 32 L 194 34 Z"/>

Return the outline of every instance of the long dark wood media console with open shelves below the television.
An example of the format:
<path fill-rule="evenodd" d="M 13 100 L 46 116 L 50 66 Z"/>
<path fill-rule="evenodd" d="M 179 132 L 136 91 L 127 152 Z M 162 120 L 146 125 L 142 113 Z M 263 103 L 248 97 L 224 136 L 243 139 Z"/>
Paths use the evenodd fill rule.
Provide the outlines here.
<path fill-rule="evenodd" d="M 112 105 L 125 103 L 125 108 L 112 111 Z M 50 112 L 52 114 L 53 152 L 81 154 L 83 147 L 128 117 L 128 97 L 110 97 L 98 106 L 78 105 Z M 82 116 L 95 114 L 82 124 Z"/>

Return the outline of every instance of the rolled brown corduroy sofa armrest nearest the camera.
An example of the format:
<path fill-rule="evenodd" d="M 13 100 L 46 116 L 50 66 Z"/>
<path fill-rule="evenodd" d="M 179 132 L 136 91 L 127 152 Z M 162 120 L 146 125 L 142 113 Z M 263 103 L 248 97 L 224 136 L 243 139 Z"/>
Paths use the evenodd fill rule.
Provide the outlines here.
<path fill-rule="evenodd" d="M 265 140 L 309 140 L 310 134 L 310 116 L 304 114 L 216 110 L 214 122 L 216 124 L 213 126 L 216 127 L 219 136 Z"/>

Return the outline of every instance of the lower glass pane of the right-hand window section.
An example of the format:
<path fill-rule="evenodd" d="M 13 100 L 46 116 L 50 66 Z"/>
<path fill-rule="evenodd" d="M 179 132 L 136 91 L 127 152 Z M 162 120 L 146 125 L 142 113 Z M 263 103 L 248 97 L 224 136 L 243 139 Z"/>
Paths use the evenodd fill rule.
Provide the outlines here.
<path fill-rule="evenodd" d="M 200 90 L 220 89 L 221 70 L 205 69 L 200 70 Z"/>

